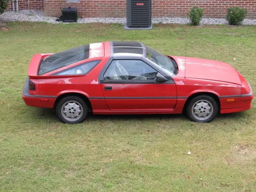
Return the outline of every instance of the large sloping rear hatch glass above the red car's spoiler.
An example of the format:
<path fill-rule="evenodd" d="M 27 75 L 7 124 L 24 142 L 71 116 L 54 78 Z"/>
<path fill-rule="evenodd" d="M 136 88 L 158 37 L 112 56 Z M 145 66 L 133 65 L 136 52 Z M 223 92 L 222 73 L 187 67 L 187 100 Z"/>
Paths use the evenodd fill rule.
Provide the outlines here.
<path fill-rule="evenodd" d="M 38 75 L 48 73 L 58 68 L 89 58 L 90 45 L 76 47 L 60 53 L 52 54 L 40 62 Z"/>

